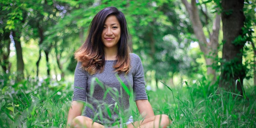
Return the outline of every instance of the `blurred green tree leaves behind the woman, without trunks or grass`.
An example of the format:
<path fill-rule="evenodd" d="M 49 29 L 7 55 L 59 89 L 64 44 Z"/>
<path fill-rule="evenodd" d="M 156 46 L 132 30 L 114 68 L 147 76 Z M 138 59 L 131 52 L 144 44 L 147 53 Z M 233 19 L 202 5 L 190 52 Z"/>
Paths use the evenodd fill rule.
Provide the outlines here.
<path fill-rule="evenodd" d="M 253 32 L 251 29 L 253 24 L 250 23 L 253 23 L 255 16 L 249 10 L 253 10 L 255 5 L 253 0 L 246 0 L 246 3 L 244 10 L 245 14 L 248 14 L 246 15 L 248 24 L 241 39 L 250 41 L 253 37 L 246 36 Z M 204 33 L 209 37 L 207 32 L 211 31 L 215 12 L 219 12 L 219 0 L 199 0 L 196 5 L 200 10 Z M 43 55 L 41 50 L 45 52 L 45 56 L 42 56 L 43 61 L 40 61 L 39 77 L 45 77 L 46 70 L 51 70 L 50 76 L 61 74 L 62 78 L 64 74 L 72 74 L 76 65 L 73 53 L 81 42 L 84 42 L 93 16 L 108 6 L 116 6 L 124 12 L 131 33 L 132 52 L 141 57 L 145 73 L 148 72 L 151 78 L 167 81 L 175 75 L 190 76 L 194 79 L 194 76 L 197 78 L 205 74 L 207 66 L 202 60 L 202 52 L 197 49 L 198 46 L 191 47 L 193 41 L 197 41 L 192 34 L 191 22 L 181 1 L 177 0 L 1 1 L 0 52 L 3 55 L 0 57 L 1 69 L 10 68 L 16 71 L 14 66 L 16 62 L 9 58 L 10 52 L 13 51 L 8 52 L 8 47 L 13 42 L 8 35 L 12 29 L 19 28 L 23 44 L 39 47 L 30 50 L 25 48 L 28 45 L 23 45 L 23 49 L 30 50 L 33 54 L 39 49 L 39 53 L 34 54 L 33 57 L 28 55 L 30 52 L 23 52 L 25 61 L 38 60 L 36 64 L 25 62 L 26 77 L 35 75 L 35 67 L 38 66 Z M 247 51 L 245 49 L 246 53 Z M 221 54 L 221 51 L 219 53 Z M 31 58 L 27 59 L 27 56 Z M 46 64 L 44 64 L 45 57 Z M 246 58 L 245 62 L 247 60 L 249 59 Z M 218 71 L 218 65 L 209 66 Z M 251 74 L 247 75 L 248 78 L 250 76 Z"/>

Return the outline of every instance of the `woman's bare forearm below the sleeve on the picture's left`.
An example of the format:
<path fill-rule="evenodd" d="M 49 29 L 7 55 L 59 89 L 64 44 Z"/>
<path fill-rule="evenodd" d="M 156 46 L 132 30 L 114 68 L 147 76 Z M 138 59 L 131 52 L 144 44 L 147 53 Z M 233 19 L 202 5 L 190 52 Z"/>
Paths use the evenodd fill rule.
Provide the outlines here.
<path fill-rule="evenodd" d="M 67 121 L 67 128 L 70 127 L 72 120 L 77 117 L 81 116 L 83 110 L 83 102 L 80 101 L 72 101 L 71 106 L 68 112 L 68 121 Z"/>

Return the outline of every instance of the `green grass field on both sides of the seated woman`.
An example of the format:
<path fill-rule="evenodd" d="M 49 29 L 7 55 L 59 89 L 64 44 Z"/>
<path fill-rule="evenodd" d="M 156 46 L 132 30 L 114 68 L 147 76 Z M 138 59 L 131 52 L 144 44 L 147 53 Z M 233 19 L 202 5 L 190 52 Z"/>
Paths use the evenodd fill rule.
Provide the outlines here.
<path fill-rule="evenodd" d="M 1 127 L 66 127 L 72 83 L 49 79 L 14 83 L 1 78 L 0 90 Z M 147 93 L 155 114 L 167 114 L 173 120 L 170 127 L 253 128 L 256 87 L 245 91 L 246 98 L 204 83 L 184 82 Z M 139 118 L 134 102 L 131 112 L 135 120 Z"/>

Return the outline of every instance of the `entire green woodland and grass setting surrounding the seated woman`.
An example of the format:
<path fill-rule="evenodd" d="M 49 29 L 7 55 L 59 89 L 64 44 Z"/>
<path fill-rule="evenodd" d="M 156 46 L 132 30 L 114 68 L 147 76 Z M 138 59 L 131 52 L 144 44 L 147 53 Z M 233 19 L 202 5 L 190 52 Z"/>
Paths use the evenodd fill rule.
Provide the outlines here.
<path fill-rule="evenodd" d="M 74 52 L 97 12 L 115 6 L 155 114 L 177 128 L 255 127 L 255 2 L 1 0 L 0 126 L 66 127 Z"/>

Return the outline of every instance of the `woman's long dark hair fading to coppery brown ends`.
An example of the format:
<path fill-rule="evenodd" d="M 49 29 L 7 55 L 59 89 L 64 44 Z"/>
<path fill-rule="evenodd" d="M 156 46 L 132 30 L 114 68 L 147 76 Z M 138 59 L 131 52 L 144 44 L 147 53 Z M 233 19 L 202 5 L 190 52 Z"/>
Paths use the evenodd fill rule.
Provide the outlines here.
<path fill-rule="evenodd" d="M 113 66 L 118 73 L 130 71 L 130 56 L 128 46 L 128 27 L 124 14 L 116 7 L 107 7 L 95 15 L 90 24 L 86 41 L 75 52 L 75 59 L 82 63 L 84 70 L 93 75 L 102 72 L 105 65 L 104 45 L 101 40 L 105 20 L 108 16 L 116 16 L 121 27 L 121 35 L 118 41 L 117 62 Z"/>

